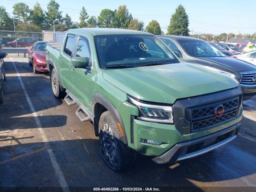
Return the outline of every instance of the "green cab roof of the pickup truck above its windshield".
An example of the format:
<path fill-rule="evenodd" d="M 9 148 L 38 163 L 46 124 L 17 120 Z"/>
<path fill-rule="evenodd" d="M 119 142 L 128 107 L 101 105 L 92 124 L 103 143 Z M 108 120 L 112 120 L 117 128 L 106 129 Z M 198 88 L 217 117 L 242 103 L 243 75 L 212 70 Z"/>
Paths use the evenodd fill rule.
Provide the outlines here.
<path fill-rule="evenodd" d="M 117 34 L 138 34 L 138 35 L 152 35 L 148 32 L 128 30 L 128 29 L 116 29 L 116 28 L 77 28 L 70 29 L 67 32 L 79 32 L 92 36 L 96 35 L 117 35 Z"/>

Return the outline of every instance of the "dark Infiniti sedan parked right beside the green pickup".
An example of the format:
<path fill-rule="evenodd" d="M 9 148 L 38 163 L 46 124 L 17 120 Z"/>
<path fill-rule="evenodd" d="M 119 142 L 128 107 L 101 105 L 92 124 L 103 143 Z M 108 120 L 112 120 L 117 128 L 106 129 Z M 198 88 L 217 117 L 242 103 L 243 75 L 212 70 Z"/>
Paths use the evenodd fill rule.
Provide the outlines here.
<path fill-rule="evenodd" d="M 256 66 L 227 57 L 208 42 L 184 36 L 158 36 L 181 61 L 201 64 L 235 78 L 242 87 L 243 99 L 256 95 Z"/>

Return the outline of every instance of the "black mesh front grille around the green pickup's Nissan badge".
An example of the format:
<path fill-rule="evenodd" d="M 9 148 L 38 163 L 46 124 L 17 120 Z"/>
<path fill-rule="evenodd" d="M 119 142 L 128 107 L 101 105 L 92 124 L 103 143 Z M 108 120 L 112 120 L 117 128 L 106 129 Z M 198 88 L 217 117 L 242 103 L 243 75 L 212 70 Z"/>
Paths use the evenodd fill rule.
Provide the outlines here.
<path fill-rule="evenodd" d="M 215 115 L 215 109 L 222 105 L 224 112 L 222 116 Z M 220 102 L 193 107 L 188 110 L 191 112 L 191 131 L 199 131 L 219 123 L 236 118 L 239 106 L 239 97 L 230 98 Z"/>

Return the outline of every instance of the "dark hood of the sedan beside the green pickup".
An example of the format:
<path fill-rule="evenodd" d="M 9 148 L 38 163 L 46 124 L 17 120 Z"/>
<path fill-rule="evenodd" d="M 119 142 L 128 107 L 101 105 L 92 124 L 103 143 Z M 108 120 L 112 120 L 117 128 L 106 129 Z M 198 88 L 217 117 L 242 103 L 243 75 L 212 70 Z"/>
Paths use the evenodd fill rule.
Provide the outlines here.
<path fill-rule="evenodd" d="M 211 64 L 226 66 L 236 72 L 256 71 L 256 67 L 253 64 L 230 57 L 196 57 L 196 59 L 204 60 L 204 62 Z"/>

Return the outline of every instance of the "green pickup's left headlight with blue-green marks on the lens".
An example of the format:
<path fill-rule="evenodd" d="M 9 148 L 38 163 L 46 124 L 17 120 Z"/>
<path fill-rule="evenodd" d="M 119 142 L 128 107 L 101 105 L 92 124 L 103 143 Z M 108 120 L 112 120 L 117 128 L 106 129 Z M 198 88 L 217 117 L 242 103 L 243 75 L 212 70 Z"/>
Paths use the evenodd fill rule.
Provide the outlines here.
<path fill-rule="evenodd" d="M 138 107 L 140 120 L 174 124 L 172 106 L 154 105 L 127 95 L 128 102 Z"/>

